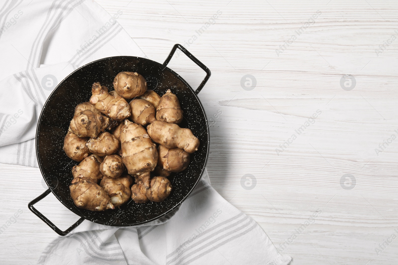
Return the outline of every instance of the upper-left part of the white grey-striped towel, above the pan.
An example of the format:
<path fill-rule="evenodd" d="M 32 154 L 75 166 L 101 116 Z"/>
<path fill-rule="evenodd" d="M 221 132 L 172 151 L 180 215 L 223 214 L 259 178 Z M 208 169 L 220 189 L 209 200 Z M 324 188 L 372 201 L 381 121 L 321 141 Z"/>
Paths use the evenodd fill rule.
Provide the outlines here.
<path fill-rule="evenodd" d="M 92 0 L 0 5 L 0 162 L 37 167 L 37 120 L 57 84 L 100 58 L 146 56 L 117 23 L 123 10 L 111 16 Z"/>

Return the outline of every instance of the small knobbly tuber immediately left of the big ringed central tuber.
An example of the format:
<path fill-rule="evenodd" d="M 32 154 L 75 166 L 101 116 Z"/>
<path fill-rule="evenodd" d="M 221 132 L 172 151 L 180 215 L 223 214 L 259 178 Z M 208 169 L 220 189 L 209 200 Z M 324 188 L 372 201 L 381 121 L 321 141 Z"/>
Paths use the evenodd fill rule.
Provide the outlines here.
<path fill-rule="evenodd" d="M 89 139 L 86 146 L 91 153 L 104 157 L 117 152 L 119 140 L 109 132 L 101 133 L 96 139 Z"/>

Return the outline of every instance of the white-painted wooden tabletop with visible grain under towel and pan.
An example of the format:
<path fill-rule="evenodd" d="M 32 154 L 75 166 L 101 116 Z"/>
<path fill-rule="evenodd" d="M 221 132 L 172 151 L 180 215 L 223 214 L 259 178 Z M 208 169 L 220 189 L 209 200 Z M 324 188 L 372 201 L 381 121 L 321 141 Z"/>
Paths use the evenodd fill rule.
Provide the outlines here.
<path fill-rule="evenodd" d="M 398 263 L 398 2 L 97 2 L 123 12 L 148 58 L 180 43 L 209 67 L 212 185 L 292 264 Z M 169 66 L 193 87 L 204 76 L 183 54 Z M 0 264 L 34 264 L 57 236 L 27 209 L 45 184 L 37 168 L 0 175 L 0 226 L 23 211 L 0 235 Z M 37 208 L 61 228 L 78 219 L 55 197 Z"/>

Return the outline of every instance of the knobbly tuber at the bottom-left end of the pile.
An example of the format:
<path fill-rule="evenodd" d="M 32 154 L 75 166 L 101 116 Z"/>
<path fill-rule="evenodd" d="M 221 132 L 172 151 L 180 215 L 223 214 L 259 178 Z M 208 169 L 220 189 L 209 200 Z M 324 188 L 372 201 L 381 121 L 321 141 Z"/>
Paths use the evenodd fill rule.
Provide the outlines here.
<path fill-rule="evenodd" d="M 69 190 L 70 197 L 79 208 L 90 211 L 115 209 L 109 195 L 92 178 L 81 178 L 70 185 Z"/>

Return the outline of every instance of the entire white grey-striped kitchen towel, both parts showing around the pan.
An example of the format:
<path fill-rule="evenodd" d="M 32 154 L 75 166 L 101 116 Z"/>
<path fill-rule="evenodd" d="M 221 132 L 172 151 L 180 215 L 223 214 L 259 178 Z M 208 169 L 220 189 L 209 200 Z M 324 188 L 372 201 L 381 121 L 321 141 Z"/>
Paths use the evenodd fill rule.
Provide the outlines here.
<path fill-rule="evenodd" d="M 0 162 L 37 167 L 40 111 L 70 72 L 108 56 L 146 57 L 117 23 L 120 16 L 123 10 L 112 17 L 92 0 L 0 4 Z M 206 172 L 178 211 L 134 227 L 84 221 L 53 240 L 38 264 L 287 265 L 290 260 L 210 186 Z"/>

